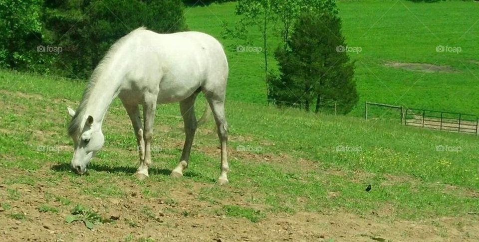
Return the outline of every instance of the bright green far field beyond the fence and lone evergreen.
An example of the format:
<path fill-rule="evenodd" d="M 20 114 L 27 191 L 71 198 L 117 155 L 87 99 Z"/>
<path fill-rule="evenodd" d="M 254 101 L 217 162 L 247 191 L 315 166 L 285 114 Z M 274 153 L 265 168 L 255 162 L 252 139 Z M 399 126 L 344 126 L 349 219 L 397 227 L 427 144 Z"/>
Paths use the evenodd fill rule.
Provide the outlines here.
<path fill-rule="evenodd" d="M 479 114 L 479 25 L 477 2 L 448 1 L 414 3 L 396 0 L 339 1 L 343 33 L 349 46 L 361 47 L 350 53 L 356 61 L 360 102 L 351 113 L 361 116 L 363 102 L 380 102 L 410 108 L 424 108 Z M 227 48 L 231 65 L 228 97 L 231 100 L 265 103 L 262 56 L 237 52 L 240 40 L 223 39 L 221 22 L 233 26 L 238 17 L 235 4 L 212 4 L 186 11 L 189 27 L 220 39 Z M 262 46 L 259 33 L 254 32 Z M 461 47 L 461 52 L 437 52 L 438 45 Z M 277 46 L 269 43 L 270 50 Z M 270 56 L 270 61 L 274 59 Z M 443 71 L 423 72 L 389 67 L 388 63 L 427 63 L 446 66 Z M 449 67 L 449 68 L 448 68 Z M 429 66 L 424 70 L 433 71 Z"/>

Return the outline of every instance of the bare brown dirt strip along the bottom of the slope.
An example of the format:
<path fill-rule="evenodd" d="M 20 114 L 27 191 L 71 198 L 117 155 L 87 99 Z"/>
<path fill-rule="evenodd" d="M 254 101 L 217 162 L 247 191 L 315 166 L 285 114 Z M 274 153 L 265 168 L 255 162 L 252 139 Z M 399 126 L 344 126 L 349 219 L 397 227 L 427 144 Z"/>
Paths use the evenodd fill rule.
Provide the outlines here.
<path fill-rule="evenodd" d="M 159 198 L 141 195 L 141 187 L 125 180 L 119 186 L 128 191 L 121 198 L 92 198 L 71 194 L 70 189 L 48 187 L 41 182 L 50 167 L 42 167 L 43 177 L 34 186 L 12 184 L 24 196 L 12 204 L 10 211 L 23 213 L 27 220 L 14 220 L 0 209 L 1 241 L 125 241 L 128 236 L 150 238 L 155 241 L 473 241 L 479 237 L 477 215 L 465 218 L 440 218 L 424 221 L 390 220 L 389 215 L 400 212 L 385 206 L 369 215 L 360 216 L 342 211 L 321 213 L 300 212 L 275 214 L 252 223 L 243 218 L 216 215 L 215 206 L 199 201 L 196 192 L 203 186 L 170 191 L 176 201 L 171 204 Z M 26 173 L 17 170 L 16 175 Z M 5 174 L 2 174 L 5 175 Z M 24 175 L 24 174 L 23 174 Z M 75 186 L 67 178 L 65 186 Z M 81 184 L 76 184 L 80 186 Z M 0 186 L 1 195 L 6 185 Z M 67 224 L 68 211 L 58 214 L 40 213 L 36 208 L 46 202 L 45 194 L 64 196 L 98 208 L 104 217 L 116 220 L 110 224 L 87 229 L 81 222 Z M 230 203 L 240 204 L 241 197 Z M 50 202 L 51 203 L 51 202 Z M 55 202 L 59 203 L 59 202 Z M 60 206 L 60 205 L 58 205 Z M 144 206 L 152 208 L 153 216 L 141 213 Z M 178 211 L 189 211 L 188 215 Z M 132 226 L 132 222 L 135 226 Z"/>

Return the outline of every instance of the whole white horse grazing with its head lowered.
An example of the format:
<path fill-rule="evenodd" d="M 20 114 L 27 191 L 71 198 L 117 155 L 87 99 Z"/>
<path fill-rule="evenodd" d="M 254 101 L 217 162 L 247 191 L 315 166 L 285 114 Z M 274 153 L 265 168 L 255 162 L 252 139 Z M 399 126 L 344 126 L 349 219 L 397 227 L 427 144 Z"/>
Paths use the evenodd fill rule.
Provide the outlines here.
<path fill-rule="evenodd" d="M 91 158 L 103 146 L 103 118 L 118 96 L 135 130 L 140 150 L 140 166 L 135 175 L 139 179 L 148 177 L 151 164 L 150 144 L 156 105 L 180 102 L 186 139 L 180 163 L 171 176 L 182 177 L 188 167 L 197 127 L 194 104 L 197 95 L 203 92 L 213 111 L 221 142 L 218 182 L 227 184 L 227 79 L 228 61 L 223 47 L 208 34 L 158 34 L 145 28 L 130 32 L 110 48 L 95 68 L 76 112 L 68 108 L 72 117 L 68 134 L 75 148 L 72 168 L 83 174 Z M 139 105 L 143 105 L 144 124 L 141 123 Z"/>

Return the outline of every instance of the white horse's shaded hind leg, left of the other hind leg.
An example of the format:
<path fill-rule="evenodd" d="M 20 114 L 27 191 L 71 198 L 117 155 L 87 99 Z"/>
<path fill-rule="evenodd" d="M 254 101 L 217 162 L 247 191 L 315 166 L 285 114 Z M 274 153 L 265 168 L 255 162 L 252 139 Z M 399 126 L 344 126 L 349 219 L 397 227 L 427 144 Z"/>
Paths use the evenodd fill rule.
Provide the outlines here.
<path fill-rule="evenodd" d="M 195 100 L 197 94 L 191 95 L 189 98 L 180 102 L 180 111 L 183 121 L 185 122 L 185 145 L 183 146 L 183 152 L 181 154 L 180 163 L 171 172 L 172 177 L 182 177 L 183 170 L 188 167 L 190 160 L 191 146 L 195 137 L 195 131 L 197 127 L 197 121 L 195 117 Z"/>

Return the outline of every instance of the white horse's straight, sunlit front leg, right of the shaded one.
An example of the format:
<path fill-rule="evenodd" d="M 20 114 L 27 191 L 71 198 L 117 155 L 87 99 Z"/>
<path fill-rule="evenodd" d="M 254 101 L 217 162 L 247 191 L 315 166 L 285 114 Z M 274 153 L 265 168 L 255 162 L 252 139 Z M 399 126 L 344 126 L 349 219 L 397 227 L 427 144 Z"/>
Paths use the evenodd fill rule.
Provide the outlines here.
<path fill-rule="evenodd" d="M 153 137 L 153 123 L 155 121 L 156 96 L 149 99 L 143 105 L 143 140 L 145 142 L 145 156 L 136 171 L 138 179 L 142 180 L 148 177 L 148 167 L 151 165 L 151 139 Z"/>

